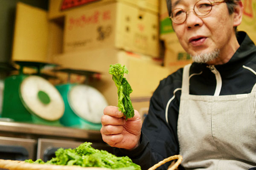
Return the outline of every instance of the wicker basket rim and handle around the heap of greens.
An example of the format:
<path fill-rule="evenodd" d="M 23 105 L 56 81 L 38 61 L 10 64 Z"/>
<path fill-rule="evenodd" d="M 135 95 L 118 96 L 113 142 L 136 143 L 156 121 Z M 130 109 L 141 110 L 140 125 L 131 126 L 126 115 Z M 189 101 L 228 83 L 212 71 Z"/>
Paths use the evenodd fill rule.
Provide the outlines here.
<path fill-rule="evenodd" d="M 168 161 L 177 159 L 175 164 L 172 164 L 168 170 L 175 170 L 182 161 L 182 156 L 175 155 L 170 156 L 169 158 L 160 161 L 155 164 L 153 167 L 148 170 L 155 170 L 157 167 L 160 167 L 162 164 L 165 164 Z M 31 164 L 24 161 L 12 161 L 12 160 L 3 160 L 0 159 L 0 168 L 6 170 L 110 170 L 108 168 L 101 167 L 79 167 L 79 166 L 63 166 L 63 165 L 52 165 L 52 164 Z"/>

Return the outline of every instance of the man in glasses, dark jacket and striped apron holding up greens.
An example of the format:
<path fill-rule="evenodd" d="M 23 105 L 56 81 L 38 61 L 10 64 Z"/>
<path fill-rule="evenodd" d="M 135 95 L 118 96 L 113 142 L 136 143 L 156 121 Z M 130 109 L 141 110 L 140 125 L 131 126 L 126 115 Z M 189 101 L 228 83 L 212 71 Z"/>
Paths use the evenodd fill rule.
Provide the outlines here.
<path fill-rule="evenodd" d="M 167 0 L 173 28 L 194 62 L 151 97 L 143 122 L 114 106 L 102 116 L 102 139 L 143 170 L 169 156 L 181 168 L 256 168 L 256 47 L 244 32 L 240 0 Z M 159 169 L 167 169 L 164 164 Z"/>

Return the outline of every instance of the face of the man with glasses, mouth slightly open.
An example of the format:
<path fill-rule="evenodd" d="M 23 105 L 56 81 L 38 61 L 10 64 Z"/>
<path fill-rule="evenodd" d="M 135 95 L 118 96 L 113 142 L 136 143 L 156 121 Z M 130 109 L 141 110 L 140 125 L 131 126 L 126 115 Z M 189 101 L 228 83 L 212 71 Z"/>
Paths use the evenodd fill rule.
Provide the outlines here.
<path fill-rule="evenodd" d="M 193 13 L 197 1 L 172 0 L 172 9 L 182 8 L 188 14 L 184 23 L 173 23 L 180 44 L 191 55 L 211 53 L 216 49 L 220 55 L 228 53 L 233 41 L 236 41 L 233 38 L 233 14 L 228 13 L 226 3 L 215 3 L 209 14 L 198 17 Z"/>

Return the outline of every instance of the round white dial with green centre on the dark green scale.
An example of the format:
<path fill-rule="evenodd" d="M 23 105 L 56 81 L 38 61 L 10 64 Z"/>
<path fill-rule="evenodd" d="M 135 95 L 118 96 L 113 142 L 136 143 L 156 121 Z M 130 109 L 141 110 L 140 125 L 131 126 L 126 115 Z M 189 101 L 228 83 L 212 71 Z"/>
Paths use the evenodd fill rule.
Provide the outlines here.
<path fill-rule="evenodd" d="M 64 114 L 65 106 L 59 91 L 46 79 L 28 76 L 20 84 L 20 98 L 30 113 L 55 121 Z"/>

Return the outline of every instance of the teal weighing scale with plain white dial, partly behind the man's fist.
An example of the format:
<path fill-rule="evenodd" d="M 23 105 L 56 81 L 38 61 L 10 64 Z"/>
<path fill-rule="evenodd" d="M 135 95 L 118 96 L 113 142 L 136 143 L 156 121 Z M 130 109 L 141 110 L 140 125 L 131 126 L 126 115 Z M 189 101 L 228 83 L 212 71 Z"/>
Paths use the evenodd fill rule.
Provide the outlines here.
<path fill-rule="evenodd" d="M 70 83 L 70 74 L 84 75 L 88 79 L 93 74 L 99 73 L 70 68 L 55 71 L 65 72 L 69 77 L 68 83 L 55 85 L 65 103 L 64 115 L 60 119 L 61 124 L 68 127 L 100 130 L 103 110 L 108 105 L 107 100 L 90 85 Z"/>

